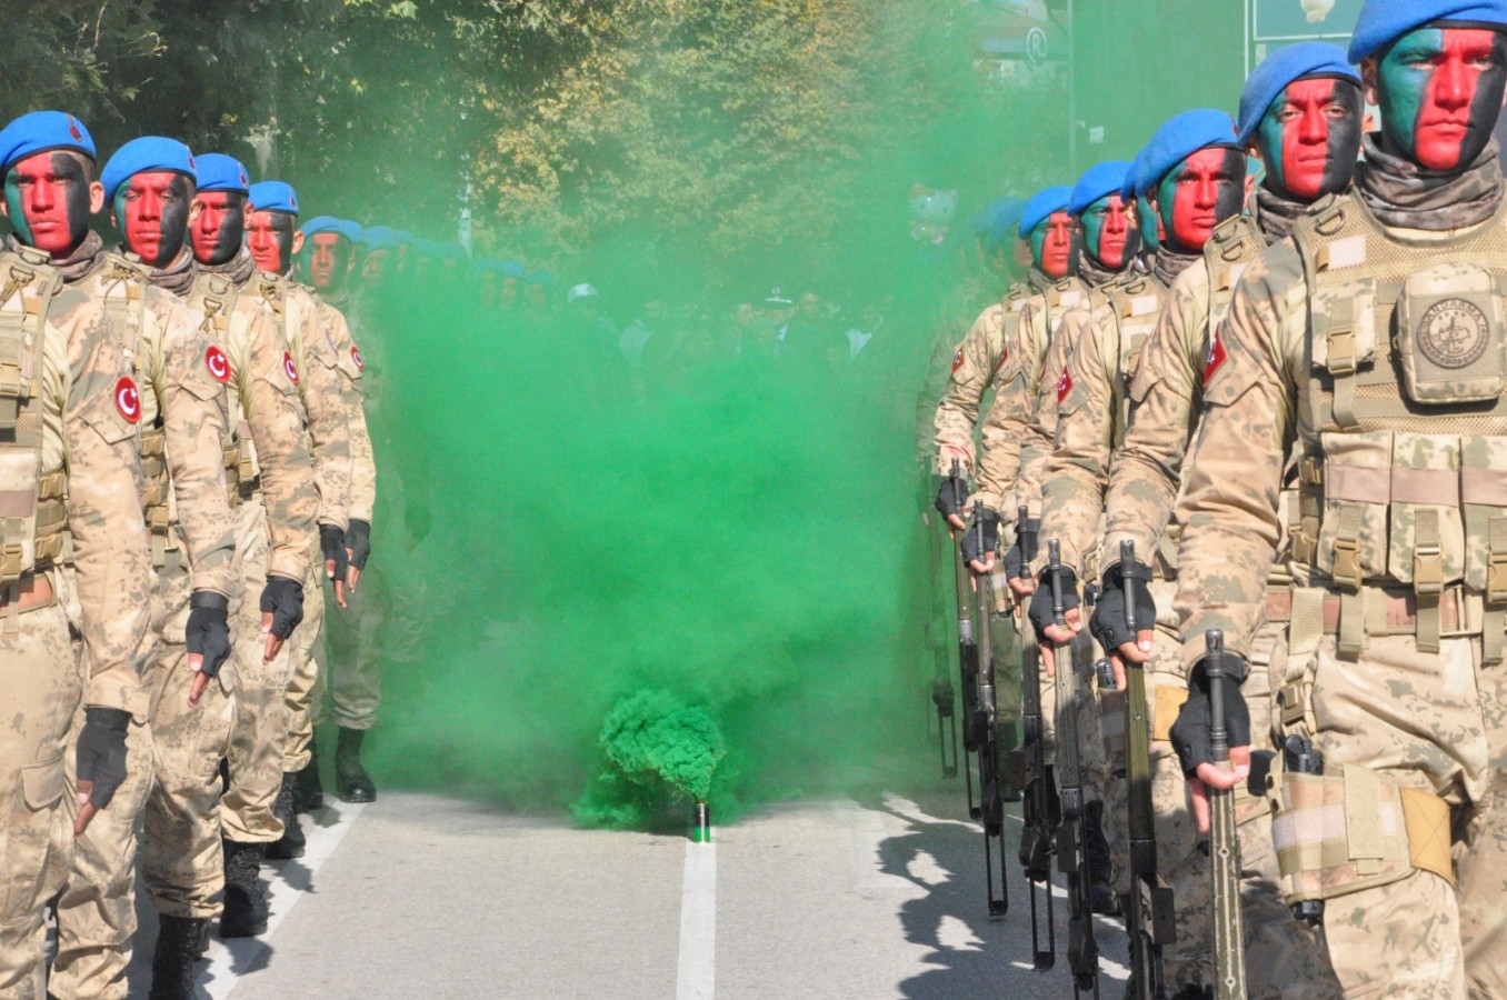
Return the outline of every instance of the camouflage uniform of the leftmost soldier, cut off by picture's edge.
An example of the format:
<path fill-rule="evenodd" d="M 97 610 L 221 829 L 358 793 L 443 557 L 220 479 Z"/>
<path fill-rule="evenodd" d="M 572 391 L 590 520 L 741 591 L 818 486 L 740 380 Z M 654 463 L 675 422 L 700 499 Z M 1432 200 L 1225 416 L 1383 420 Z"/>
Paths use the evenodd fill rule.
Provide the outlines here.
<path fill-rule="evenodd" d="M 62 288 L 45 255 L 0 253 L 0 422 L 11 426 L 0 444 L 0 771 L 12 776 L 0 822 L 0 994 L 41 998 L 44 907 L 68 875 L 78 809 L 66 747 L 80 703 L 146 721 L 152 569 L 140 405 L 104 312 Z"/>

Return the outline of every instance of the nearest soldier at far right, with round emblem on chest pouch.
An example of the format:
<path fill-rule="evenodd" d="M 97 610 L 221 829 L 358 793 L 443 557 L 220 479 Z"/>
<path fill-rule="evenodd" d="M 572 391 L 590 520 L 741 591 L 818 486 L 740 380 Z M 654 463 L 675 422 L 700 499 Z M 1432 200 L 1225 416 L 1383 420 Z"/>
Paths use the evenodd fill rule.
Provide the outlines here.
<path fill-rule="evenodd" d="M 1254 655 L 1296 446 L 1279 724 L 1322 773 L 1282 779 L 1287 901 L 1326 904 L 1346 995 L 1507 995 L 1507 224 L 1492 139 L 1507 3 L 1368 0 L 1349 59 L 1382 111 L 1355 191 L 1246 268 L 1206 363 L 1178 550 L 1189 697 L 1171 735 L 1203 824 L 1207 786 L 1251 771 L 1230 685 L 1234 770 L 1209 764 L 1204 631 Z"/>

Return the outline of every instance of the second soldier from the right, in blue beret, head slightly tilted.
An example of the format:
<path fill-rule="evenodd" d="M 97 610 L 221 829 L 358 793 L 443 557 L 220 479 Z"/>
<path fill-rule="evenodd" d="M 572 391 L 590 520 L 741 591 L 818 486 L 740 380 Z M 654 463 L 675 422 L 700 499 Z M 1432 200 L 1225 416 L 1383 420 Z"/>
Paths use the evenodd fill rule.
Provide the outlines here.
<path fill-rule="evenodd" d="M 1290 232 L 1304 208 L 1349 187 L 1361 149 L 1361 78 L 1344 60 L 1344 51 L 1334 45 L 1304 42 L 1282 48 L 1251 74 L 1240 98 L 1236 142 L 1266 164 L 1266 176 L 1255 191 L 1254 214 L 1221 224 L 1206 244 L 1203 259 L 1172 283 L 1168 306 L 1141 352 L 1129 389 L 1130 428 L 1111 464 L 1105 500 L 1106 539 L 1100 557 L 1103 598 L 1091 628 L 1109 652 L 1121 690 L 1123 658 L 1150 664 L 1153 687 L 1148 693 L 1153 697 L 1147 708 L 1154 738 L 1153 806 L 1160 813 L 1162 825 L 1157 851 L 1166 870 L 1188 873 L 1189 884 L 1177 884 L 1174 892 L 1178 908 L 1186 904 L 1189 914 L 1204 913 L 1209 884 L 1201 878 L 1200 864 L 1178 866 L 1178 860 L 1195 849 L 1195 836 L 1181 768 L 1175 765 L 1168 742 L 1168 727 L 1186 697 L 1186 679 L 1172 611 L 1178 529 L 1172 526 L 1163 532 L 1163 527 L 1172 515 L 1183 456 L 1203 408 L 1210 331 L 1230 306 L 1234 279 L 1269 244 Z M 1124 574 L 1120 566 L 1123 541 L 1133 542 L 1151 565 L 1139 565 L 1139 572 Z M 1150 586 L 1145 580 L 1151 580 Z M 1267 598 L 1273 620 L 1252 643 L 1252 663 L 1270 664 L 1278 676 L 1287 616 L 1272 611 L 1279 608 L 1282 599 L 1290 602 L 1288 587 L 1285 572 L 1273 575 Z M 1129 636 L 1124 628 L 1126 602 L 1130 599 L 1145 607 L 1141 620 L 1147 622 L 1147 628 L 1139 637 Z M 1153 622 L 1154 630 L 1150 627 Z M 1267 758 L 1273 750 L 1269 694 L 1266 670 L 1258 670 L 1246 682 L 1245 696 L 1252 720 L 1258 720 L 1252 730 L 1255 745 L 1267 752 Z M 1251 994 L 1282 997 L 1307 991 L 1304 995 L 1335 995 L 1334 973 L 1316 937 L 1282 904 L 1264 800 L 1243 795 L 1237 809 L 1246 872 L 1242 905 Z M 1207 923 L 1198 931 L 1210 932 Z"/>

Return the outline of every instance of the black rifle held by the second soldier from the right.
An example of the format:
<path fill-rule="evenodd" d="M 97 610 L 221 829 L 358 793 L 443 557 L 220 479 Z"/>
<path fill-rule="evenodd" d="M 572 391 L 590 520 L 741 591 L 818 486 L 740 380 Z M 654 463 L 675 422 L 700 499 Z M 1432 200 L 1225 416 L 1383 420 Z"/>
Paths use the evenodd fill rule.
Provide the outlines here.
<path fill-rule="evenodd" d="M 1132 642 L 1138 574 L 1135 542 L 1120 542 L 1120 574 L 1126 589 L 1126 630 Z M 1130 901 L 1126 932 L 1130 937 L 1130 988 L 1135 1000 L 1165 1000 L 1162 946 L 1175 935 L 1172 889 L 1156 873 L 1156 824 L 1151 812 L 1151 723 L 1145 708 L 1145 666 L 1126 664 L 1126 782 L 1130 789 Z"/>

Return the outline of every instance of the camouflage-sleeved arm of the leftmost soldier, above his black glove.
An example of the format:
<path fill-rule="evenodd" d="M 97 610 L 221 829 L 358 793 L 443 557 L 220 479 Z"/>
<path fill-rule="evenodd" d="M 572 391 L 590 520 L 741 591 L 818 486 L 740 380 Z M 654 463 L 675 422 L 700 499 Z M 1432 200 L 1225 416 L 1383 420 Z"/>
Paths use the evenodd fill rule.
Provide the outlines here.
<path fill-rule="evenodd" d="M 98 306 L 63 291 L 53 315 L 68 337 L 66 399 L 68 530 L 81 630 L 89 649 L 84 705 L 146 717 L 152 562 L 142 497 L 146 482 L 136 428 L 118 402 L 130 364 Z M 137 413 L 139 413 L 137 407 Z"/>

